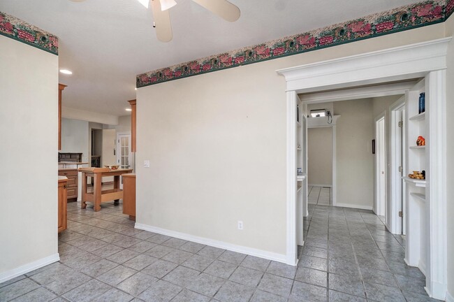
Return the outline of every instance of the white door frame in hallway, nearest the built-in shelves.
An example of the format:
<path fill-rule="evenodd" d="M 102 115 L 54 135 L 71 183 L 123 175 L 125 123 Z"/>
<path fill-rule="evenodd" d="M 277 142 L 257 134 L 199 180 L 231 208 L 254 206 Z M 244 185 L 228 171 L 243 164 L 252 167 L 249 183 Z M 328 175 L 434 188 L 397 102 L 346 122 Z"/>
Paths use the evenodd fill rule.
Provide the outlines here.
<path fill-rule="evenodd" d="M 405 117 L 405 95 L 395 101 L 390 106 L 391 126 L 390 126 L 390 207 L 388 208 L 389 231 L 393 234 L 405 235 L 405 182 L 402 180 L 402 171 L 407 171 L 405 167 L 405 123 L 399 130 L 399 122 L 404 122 Z M 402 211 L 404 217 L 399 217 Z"/>

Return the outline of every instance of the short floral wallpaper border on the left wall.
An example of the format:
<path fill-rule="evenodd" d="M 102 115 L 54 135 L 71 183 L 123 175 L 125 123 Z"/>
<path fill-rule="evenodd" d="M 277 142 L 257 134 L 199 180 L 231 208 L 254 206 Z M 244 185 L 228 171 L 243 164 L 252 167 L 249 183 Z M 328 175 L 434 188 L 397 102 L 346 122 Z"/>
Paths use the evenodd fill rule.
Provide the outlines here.
<path fill-rule="evenodd" d="M 58 55 L 57 36 L 3 12 L 0 12 L 0 35 Z"/>

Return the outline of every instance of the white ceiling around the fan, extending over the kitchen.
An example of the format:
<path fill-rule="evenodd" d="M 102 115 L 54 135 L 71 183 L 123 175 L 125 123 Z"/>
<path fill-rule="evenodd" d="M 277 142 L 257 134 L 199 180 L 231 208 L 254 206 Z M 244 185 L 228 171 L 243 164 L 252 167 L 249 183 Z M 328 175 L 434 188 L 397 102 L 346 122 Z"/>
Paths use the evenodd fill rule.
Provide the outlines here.
<path fill-rule="evenodd" d="M 126 115 L 136 75 L 353 20 L 420 0 L 230 0 L 226 22 L 191 0 L 170 9 L 173 41 L 157 41 L 152 13 L 138 0 L 0 0 L 0 11 L 59 36 L 63 106 Z"/>

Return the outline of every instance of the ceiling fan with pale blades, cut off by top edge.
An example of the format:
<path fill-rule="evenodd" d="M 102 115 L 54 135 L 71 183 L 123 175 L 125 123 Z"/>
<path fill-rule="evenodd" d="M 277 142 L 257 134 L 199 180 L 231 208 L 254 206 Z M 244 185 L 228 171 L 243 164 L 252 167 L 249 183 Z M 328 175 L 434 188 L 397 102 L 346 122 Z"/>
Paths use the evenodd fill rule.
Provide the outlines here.
<path fill-rule="evenodd" d="M 71 0 L 73 2 L 82 2 L 85 0 Z M 203 6 L 210 12 L 226 21 L 234 22 L 240 17 L 240 8 L 233 5 L 227 0 L 192 0 Z M 156 28 L 156 36 L 161 42 L 172 40 L 172 25 L 170 24 L 169 8 L 177 5 L 175 0 L 149 0 L 149 6 L 153 11 L 153 27 Z"/>

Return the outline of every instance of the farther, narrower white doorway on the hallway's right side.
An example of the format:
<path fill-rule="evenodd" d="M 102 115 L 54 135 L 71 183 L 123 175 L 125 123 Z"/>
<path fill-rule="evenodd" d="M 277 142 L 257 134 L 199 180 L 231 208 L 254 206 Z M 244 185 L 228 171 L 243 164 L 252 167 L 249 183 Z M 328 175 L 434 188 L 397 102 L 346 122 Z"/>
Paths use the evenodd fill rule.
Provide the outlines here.
<path fill-rule="evenodd" d="M 383 217 L 386 213 L 386 137 L 385 113 L 375 120 L 375 213 Z"/>

